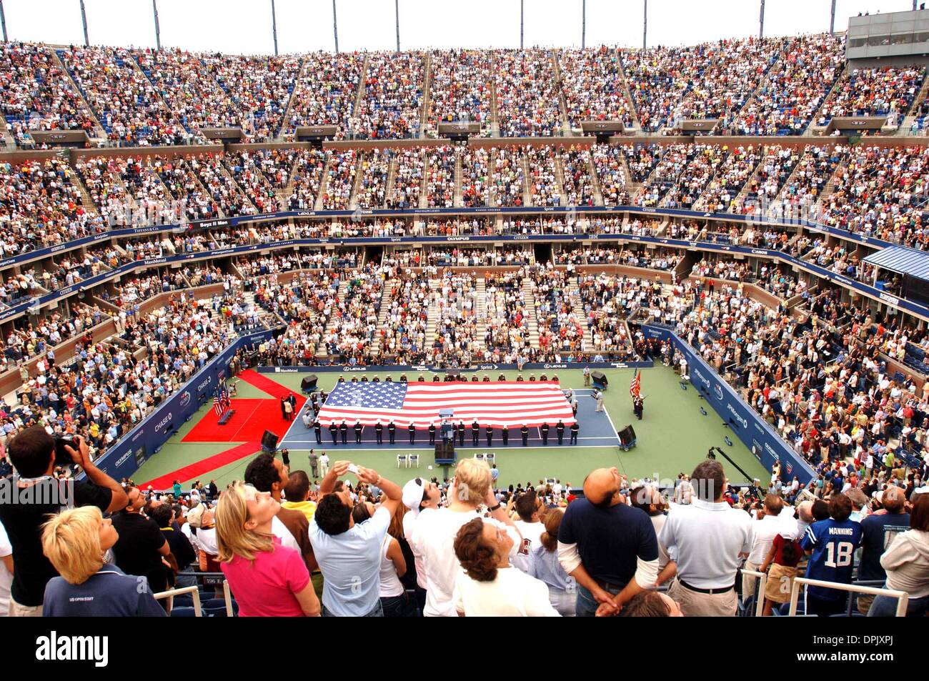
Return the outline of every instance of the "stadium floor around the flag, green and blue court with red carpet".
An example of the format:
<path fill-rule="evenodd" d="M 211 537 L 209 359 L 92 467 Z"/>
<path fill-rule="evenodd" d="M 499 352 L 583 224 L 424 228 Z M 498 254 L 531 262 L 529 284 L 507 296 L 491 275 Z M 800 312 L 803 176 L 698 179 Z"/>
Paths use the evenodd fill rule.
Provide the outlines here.
<path fill-rule="evenodd" d="M 558 478 L 562 482 L 571 482 L 580 485 L 583 478 L 594 468 L 616 466 L 628 478 L 659 478 L 674 479 L 681 472 L 689 473 L 693 466 L 705 457 L 711 447 L 722 447 L 726 454 L 753 478 L 769 478 L 764 467 L 752 455 L 739 439 L 732 437 L 732 432 L 721 419 L 713 413 L 707 412 L 706 402 L 700 399 L 697 391 L 692 387 L 687 390 L 681 388 L 680 377 L 671 369 L 656 363 L 653 369 L 642 370 L 642 395 L 645 396 L 645 414 L 642 421 L 635 419 L 632 409 L 632 399 L 629 395 L 629 384 L 633 377 L 632 369 L 606 370 L 609 387 L 604 393 L 605 411 L 597 413 L 596 402 L 591 388 L 583 385 L 581 370 L 559 370 L 558 379 L 564 388 L 574 390 L 578 398 L 578 423 L 580 432 L 578 444 L 569 445 L 569 435 L 566 430 L 565 444 L 558 446 L 555 429 L 552 428 L 548 445 L 542 445 L 541 433 L 533 427 L 530 434 L 529 446 L 523 447 L 518 429 L 510 432 L 509 444 L 504 447 L 500 439 L 500 431 L 494 432 L 491 447 L 486 446 L 485 430 L 482 428 L 478 439 L 478 446 L 472 444 L 470 423 L 466 422 L 464 447 L 457 446 L 458 459 L 473 457 L 475 454 L 494 453 L 495 463 L 500 470 L 498 481 L 501 485 L 525 484 L 527 480 L 537 480 L 540 477 Z M 504 375 L 514 380 L 518 372 L 504 372 Z M 239 397 L 232 399 L 232 406 L 237 402 L 250 402 L 254 399 L 265 399 L 269 405 L 277 409 L 279 398 L 290 391 L 299 392 L 300 373 L 262 373 L 254 374 L 264 379 L 260 389 L 243 378 L 239 383 Z M 382 381 L 387 375 L 397 380 L 399 373 L 369 373 L 369 379 L 375 375 Z M 338 373 L 320 373 L 319 386 L 327 392 L 332 391 L 338 380 Z M 426 373 L 427 377 L 431 377 Z M 529 372 L 524 372 L 529 377 Z M 413 376 L 415 378 L 415 376 Z M 259 391 L 260 390 L 260 391 Z M 267 392 L 266 392 L 267 391 Z M 300 397 L 298 405 L 303 411 L 303 402 L 306 398 Z M 703 408 L 701 411 L 701 407 Z M 702 412 L 707 412 L 706 414 Z M 243 411 L 244 415 L 245 412 Z M 280 410 L 277 413 L 280 421 Z M 387 443 L 378 445 L 374 438 L 373 428 L 365 428 L 361 444 L 355 443 L 355 433 L 352 430 L 354 423 L 348 424 L 348 444 L 333 445 L 328 429 L 323 428 L 323 442 L 318 445 L 312 429 L 307 430 L 298 417 L 293 422 L 285 423 L 275 421 L 273 425 L 268 422 L 255 425 L 256 438 L 251 442 L 237 441 L 236 433 L 240 425 L 233 417 L 228 430 L 216 428 L 216 413 L 212 405 L 204 407 L 190 423 L 182 426 L 177 434 L 167 441 L 164 449 L 157 456 L 151 457 L 142 465 L 135 479 L 144 487 L 149 484 L 155 489 L 170 487 L 175 479 L 180 479 L 185 488 L 194 480 L 215 478 L 216 484 L 222 487 L 233 479 L 241 479 L 245 466 L 251 460 L 249 454 L 260 450 L 260 432 L 265 427 L 281 435 L 279 449 L 289 450 L 291 468 L 308 470 L 307 454 L 313 449 L 317 454 L 326 452 L 332 461 L 350 459 L 358 465 L 366 465 L 379 470 L 396 468 L 397 455 L 407 452 L 420 455 L 419 469 L 402 470 L 392 474 L 400 482 L 416 476 L 433 476 L 442 478 L 445 472 L 442 468 L 433 465 L 432 450 L 428 444 L 428 437 L 422 430 L 417 431 L 416 441 L 411 447 L 409 436 L 405 428 L 398 428 L 396 443 L 390 446 Z M 619 447 L 616 431 L 632 424 L 638 437 L 634 449 L 623 452 Z M 283 427 L 281 427 L 283 426 Z M 281 427 L 275 431 L 275 427 Z M 200 435 L 206 432 L 216 432 L 217 439 L 204 442 Z M 229 439 L 218 439 L 219 433 L 229 433 Z M 195 436 L 195 437 L 191 437 Z M 241 438 L 241 436 L 239 436 Z M 732 441 L 730 446 L 726 438 Z M 196 439 L 196 441 L 193 441 Z M 429 466 L 432 466 L 430 471 Z M 727 466 L 729 478 L 734 483 L 751 482 L 743 480 L 739 472 Z M 167 481 L 159 487 L 158 484 Z"/>

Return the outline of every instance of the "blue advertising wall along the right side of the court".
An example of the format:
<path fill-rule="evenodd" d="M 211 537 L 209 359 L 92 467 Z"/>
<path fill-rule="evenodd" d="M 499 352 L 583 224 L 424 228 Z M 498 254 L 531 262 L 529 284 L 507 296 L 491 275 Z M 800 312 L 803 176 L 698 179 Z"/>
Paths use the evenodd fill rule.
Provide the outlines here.
<path fill-rule="evenodd" d="M 646 334 L 647 338 L 670 341 L 684 355 L 687 359 L 690 383 L 767 470 L 771 470 L 774 463 L 780 461 L 781 475 L 784 479 L 796 476 L 800 482 L 806 484 L 811 478 L 816 477 L 816 472 L 803 457 L 794 452 L 778 432 L 746 404 L 739 393 L 720 378 L 713 367 L 680 336 L 669 328 L 649 324 L 642 326 L 642 333 Z"/>

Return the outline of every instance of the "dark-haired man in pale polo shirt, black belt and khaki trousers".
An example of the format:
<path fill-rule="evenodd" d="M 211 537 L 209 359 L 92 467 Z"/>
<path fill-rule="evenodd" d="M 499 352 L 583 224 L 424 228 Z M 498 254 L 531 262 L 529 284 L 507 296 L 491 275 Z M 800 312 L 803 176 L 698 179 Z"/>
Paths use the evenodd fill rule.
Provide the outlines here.
<path fill-rule="evenodd" d="M 685 617 L 736 614 L 739 558 L 752 550 L 752 517 L 723 501 L 723 465 L 707 459 L 690 476 L 693 502 L 671 509 L 659 535 L 675 563 L 668 596 Z"/>

